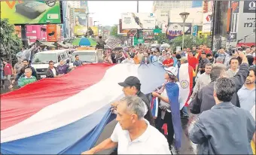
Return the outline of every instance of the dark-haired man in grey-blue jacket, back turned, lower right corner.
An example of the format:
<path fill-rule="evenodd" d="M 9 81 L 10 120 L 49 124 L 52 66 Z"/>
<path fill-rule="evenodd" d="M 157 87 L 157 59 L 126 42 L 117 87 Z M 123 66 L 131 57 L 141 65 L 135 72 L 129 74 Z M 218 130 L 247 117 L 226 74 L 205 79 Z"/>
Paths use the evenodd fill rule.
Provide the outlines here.
<path fill-rule="evenodd" d="M 190 140 L 199 144 L 198 154 L 252 154 L 255 122 L 249 111 L 230 102 L 235 93 L 231 79 L 215 81 L 215 105 L 200 114 L 189 132 Z"/>

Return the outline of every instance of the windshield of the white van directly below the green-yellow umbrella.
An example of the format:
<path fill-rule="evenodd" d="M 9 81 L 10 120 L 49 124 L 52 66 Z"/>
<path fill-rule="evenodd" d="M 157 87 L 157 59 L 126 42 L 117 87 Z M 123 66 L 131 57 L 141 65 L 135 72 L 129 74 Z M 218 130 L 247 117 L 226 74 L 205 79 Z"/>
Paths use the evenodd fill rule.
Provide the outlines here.
<path fill-rule="evenodd" d="M 96 62 L 96 53 L 94 52 L 75 52 L 72 53 L 72 62 L 75 62 L 75 55 L 78 55 L 82 62 Z"/>

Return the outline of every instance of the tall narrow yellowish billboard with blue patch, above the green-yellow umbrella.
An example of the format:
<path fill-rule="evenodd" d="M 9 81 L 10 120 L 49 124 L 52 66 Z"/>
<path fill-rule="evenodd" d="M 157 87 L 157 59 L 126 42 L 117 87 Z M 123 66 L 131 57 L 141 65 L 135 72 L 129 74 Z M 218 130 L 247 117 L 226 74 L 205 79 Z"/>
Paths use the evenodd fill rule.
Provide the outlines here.
<path fill-rule="evenodd" d="M 86 9 L 84 8 L 75 8 L 74 9 L 75 17 L 75 35 L 85 35 L 87 33 L 87 15 Z"/>

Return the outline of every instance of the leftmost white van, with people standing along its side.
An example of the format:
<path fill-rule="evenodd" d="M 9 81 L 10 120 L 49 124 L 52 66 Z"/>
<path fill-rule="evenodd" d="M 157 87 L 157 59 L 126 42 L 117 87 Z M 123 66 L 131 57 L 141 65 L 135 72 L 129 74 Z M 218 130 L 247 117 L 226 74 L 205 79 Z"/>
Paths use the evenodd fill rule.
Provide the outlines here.
<path fill-rule="evenodd" d="M 46 78 L 46 71 L 49 67 L 49 62 L 52 60 L 54 66 L 59 65 L 59 61 L 64 59 L 66 63 L 70 62 L 69 50 L 47 50 L 35 53 L 32 59 L 32 67 L 35 68 L 38 78 Z"/>

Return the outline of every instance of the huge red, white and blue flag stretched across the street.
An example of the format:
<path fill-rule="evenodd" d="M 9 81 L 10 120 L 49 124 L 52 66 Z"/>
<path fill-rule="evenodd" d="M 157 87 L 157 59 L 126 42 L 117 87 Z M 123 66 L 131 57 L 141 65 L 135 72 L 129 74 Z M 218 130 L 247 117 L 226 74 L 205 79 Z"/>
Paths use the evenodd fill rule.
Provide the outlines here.
<path fill-rule="evenodd" d="M 147 94 L 163 84 L 164 73 L 154 64 L 88 64 L 3 94 L 1 153 L 80 154 L 111 120 L 110 104 L 123 96 L 118 82 L 136 76 Z"/>

